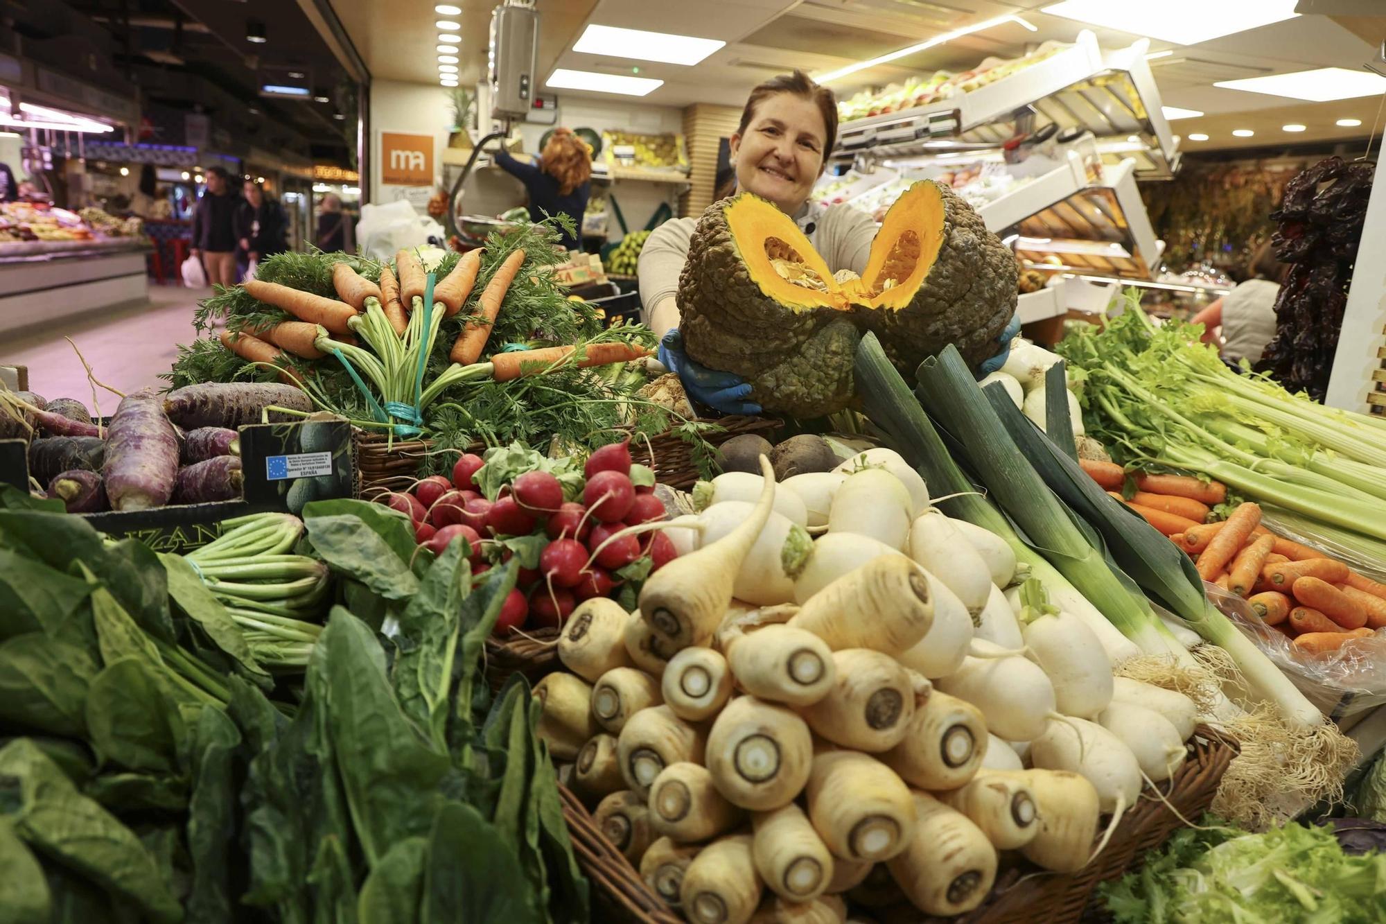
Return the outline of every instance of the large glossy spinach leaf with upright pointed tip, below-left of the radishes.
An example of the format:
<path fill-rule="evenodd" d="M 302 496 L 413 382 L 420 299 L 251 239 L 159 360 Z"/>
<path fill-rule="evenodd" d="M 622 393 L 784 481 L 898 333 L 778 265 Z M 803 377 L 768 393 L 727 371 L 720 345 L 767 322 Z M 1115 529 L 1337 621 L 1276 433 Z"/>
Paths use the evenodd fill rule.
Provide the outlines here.
<path fill-rule="evenodd" d="M 438 784 L 452 763 L 424 744 L 401 709 L 385 677 L 385 653 L 363 622 L 334 608 L 313 655 L 309 671 L 317 667 L 327 681 L 342 789 L 366 862 L 374 867 L 389 845 L 427 831 Z"/>

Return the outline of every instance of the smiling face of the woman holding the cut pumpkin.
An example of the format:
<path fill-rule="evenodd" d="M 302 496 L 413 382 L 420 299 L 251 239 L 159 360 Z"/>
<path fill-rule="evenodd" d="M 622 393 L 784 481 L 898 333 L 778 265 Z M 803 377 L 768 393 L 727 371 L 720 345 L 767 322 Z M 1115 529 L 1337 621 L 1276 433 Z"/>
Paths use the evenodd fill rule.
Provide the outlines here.
<path fill-rule="evenodd" d="M 827 125 L 812 100 L 776 93 L 762 100 L 746 135 L 733 135 L 736 185 L 793 215 L 808 200 L 823 171 Z"/>

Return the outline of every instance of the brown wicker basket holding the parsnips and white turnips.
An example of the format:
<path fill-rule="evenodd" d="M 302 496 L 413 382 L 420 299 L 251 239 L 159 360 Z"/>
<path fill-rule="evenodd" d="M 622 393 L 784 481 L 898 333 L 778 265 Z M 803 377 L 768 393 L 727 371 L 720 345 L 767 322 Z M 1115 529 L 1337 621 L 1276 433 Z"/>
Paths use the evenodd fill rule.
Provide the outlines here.
<path fill-rule="evenodd" d="M 1199 726 L 1193 753 L 1168 782 L 1160 785 L 1164 798 L 1191 821 L 1213 803 L 1213 795 L 1238 753 L 1238 745 L 1217 731 Z M 563 789 L 563 812 L 574 850 L 584 874 L 593 882 L 592 920 L 615 924 L 675 924 L 681 917 L 668 910 L 631 863 L 597 831 L 592 816 L 570 791 Z M 1095 863 L 1074 874 L 1045 873 L 1030 864 L 1006 869 L 997 880 L 985 905 L 959 917 L 926 917 L 913 907 L 894 907 L 873 914 L 888 921 L 920 924 L 1074 924 L 1082 917 L 1098 882 L 1127 871 L 1149 850 L 1160 846 L 1184 820 L 1170 807 L 1143 795 L 1127 812 Z M 599 916 L 600 914 L 600 916 Z"/>

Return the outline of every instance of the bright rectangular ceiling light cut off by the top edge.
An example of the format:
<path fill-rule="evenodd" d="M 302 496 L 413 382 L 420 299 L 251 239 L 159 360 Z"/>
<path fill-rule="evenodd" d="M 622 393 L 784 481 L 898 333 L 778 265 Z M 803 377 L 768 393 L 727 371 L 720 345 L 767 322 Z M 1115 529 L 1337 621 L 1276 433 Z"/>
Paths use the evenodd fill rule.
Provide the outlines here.
<path fill-rule="evenodd" d="M 1063 0 L 1041 12 L 1174 44 L 1198 44 L 1299 15 L 1295 0 Z"/>

